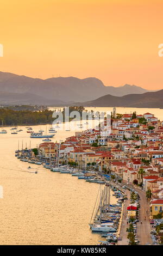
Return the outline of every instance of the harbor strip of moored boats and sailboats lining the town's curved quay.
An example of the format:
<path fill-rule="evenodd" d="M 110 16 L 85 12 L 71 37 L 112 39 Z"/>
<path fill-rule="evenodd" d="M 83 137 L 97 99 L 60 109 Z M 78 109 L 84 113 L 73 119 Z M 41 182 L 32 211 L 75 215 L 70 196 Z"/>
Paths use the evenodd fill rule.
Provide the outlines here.
<path fill-rule="evenodd" d="M 110 175 L 77 169 L 68 165 L 61 165 L 57 157 L 53 160 L 51 158 L 45 159 L 44 157 L 41 159 L 40 156 L 35 157 L 31 149 L 16 150 L 15 156 L 20 161 L 40 165 L 42 168 L 48 169 L 52 173 L 70 174 L 72 177 L 76 176 L 78 180 L 85 180 L 90 184 L 99 184 L 95 206 L 93 207 L 91 220 L 87 228 L 90 226 L 92 234 L 101 236 L 97 245 L 117 244 L 118 240 L 121 239 L 119 231 L 120 220 L 122 219 L 122 206 L 126 194 L 122 188 L 118 188 L 111 182 Z M 31 165 L 28 166 L 28 170 L 30 171 L 31 169 Z M 37 173 L 36 171 L 35 174 Z M 115 197 L 115 199 L 110 200 L 110 198 L 113 197 Z"/>

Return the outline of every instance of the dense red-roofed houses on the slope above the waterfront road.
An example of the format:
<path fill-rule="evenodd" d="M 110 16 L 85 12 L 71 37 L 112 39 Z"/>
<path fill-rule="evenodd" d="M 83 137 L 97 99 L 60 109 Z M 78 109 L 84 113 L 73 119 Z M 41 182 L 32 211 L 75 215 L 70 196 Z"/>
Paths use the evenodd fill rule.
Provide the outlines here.
<path fill-rule="evenodd" d="M 68 160 L 82 169 L 110 173 L 125 184 L 135 184 L 151 198 L 151 215 L 163 207 L 163 122 L 151 113 L 123 114 L 111 126 L 89 129 L 64 142 L 42 143 L 39 154 Z"/>

